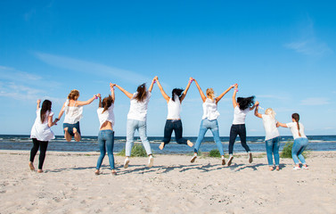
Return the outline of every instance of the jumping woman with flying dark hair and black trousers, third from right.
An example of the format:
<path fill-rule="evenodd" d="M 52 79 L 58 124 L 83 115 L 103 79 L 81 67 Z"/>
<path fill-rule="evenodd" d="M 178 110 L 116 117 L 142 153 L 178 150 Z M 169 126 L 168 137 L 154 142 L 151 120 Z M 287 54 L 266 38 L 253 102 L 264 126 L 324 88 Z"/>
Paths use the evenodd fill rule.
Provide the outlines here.
<path fill-rule="evenodd" d="M 254 96 L 250 97 L 238 97 L 235 100 L 235 96 L 238 92 L 238 84 L 234 86 L 233 104 L 234 104 L 234 122 L 230 130 L 230 141 L 229 141 L 229 161 L 227 161 L 227 166 L 230 166 L 234 160 L 234 141 L 239 135 L 241 138 L 242 147 L 249 154 L 249 162 L 253 161 L 252 153 L 250 152 L 250 147 L 246 144 L 246 128 L 245 128 L 245 118 L 249 111 L 252 111 L 256 104 L 254 104 Z M 251 106 L 252 105 L 252 106 Z"/>

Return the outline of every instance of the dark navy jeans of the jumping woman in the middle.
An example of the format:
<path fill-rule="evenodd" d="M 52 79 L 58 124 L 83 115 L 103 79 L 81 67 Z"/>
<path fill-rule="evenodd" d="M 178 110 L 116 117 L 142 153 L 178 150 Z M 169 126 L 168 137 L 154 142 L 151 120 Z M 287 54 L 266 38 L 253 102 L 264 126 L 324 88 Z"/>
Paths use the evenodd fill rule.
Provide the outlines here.
<path fill-rule="evenodd" d="M 186 144 L 187 139 L 182 137 L 182 122 L 181 119 L 167 119 L 165 126 L 165 134 L 163 136 L 163 143 L 169 144 L 171 139 L 171 134 L 175 132 L 175 138 L 177 144 Z"/>

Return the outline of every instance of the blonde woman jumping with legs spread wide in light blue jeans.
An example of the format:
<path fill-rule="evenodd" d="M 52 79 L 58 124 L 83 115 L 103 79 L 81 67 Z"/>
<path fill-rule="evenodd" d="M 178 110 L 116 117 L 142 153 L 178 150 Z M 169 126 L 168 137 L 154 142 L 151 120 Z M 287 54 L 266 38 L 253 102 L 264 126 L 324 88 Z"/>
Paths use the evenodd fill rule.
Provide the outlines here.
<path fill-rule="evenodd" d="M 217 148 L 222 156 L 222 165 L 225 165 L 223 144 L 219 138 L 219 128 L 218 128 L 218 122 L 217 122 L 219 112 L 217 111 L 217 103 L 222 99 L 222 97 L 227 92 L 231 90 L 231 88 L 233 88 L 233 86 L 230 86 L 229 88 L 225 90 L 225 92 L 223 92 L 221 95 L 215 98 L 215 92 L 212 88 L 207 89 L 207 92 L 206 92 L 207 96 L 205 96 L 203 92 L 201 91 L 201 86 L 197 83 L 196 79 L 193 79 L 193 80 L 197 88 L 199 89 L 201 100 L 203 101 L 203 117 L 201 120 L 200 133 L 196 140 L 193 158 L 191 162 L 196 160 L 197 152 L 199 152 L 201 142 L 203 141 L 203 138 L 205 134 L 207 133 L 208 129 L 210 129 L 210 131 L 212 132 L 212 135 L 214 136 L 214 140 L 217 144 Z"/>

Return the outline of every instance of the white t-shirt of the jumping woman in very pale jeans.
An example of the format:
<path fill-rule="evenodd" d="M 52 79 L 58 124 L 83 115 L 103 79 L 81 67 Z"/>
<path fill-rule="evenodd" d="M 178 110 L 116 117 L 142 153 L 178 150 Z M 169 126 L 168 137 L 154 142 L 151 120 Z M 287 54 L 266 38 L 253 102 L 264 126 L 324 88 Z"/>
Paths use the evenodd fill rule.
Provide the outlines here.
<path fill-rule="evenodd" d="M 152 93 L 147 91 L 147 97 L 143 102 L 138 102 L 135 99 L 135 95 L 137 95 L 137 92 L 135 92 L 131 98 L 131 106 L 129 107 L 127 119 L 145 121 L 147 117 L 148 103 L 150 102 Z"/>

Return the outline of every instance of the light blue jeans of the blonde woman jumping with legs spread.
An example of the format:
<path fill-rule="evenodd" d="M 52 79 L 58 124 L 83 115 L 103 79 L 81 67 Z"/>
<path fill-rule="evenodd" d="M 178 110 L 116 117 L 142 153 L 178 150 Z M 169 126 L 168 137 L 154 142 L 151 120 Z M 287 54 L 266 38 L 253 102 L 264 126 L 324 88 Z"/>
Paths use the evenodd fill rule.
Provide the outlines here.
<path fill-rule="evenodd" d="M 214 140 L 217 144 L 217 148 L 221 155 L 224 155 L 223 151 L 223 144 L 220 141 L 219 138 L 219 130 L 218 130 L 218 122 L 217 119 L 209 120 L 209 119 L 202 119 L 201 120 L 201 127 L 200 127 L 200 133 L 197 137 L 196 144 L 194 147 L 194 152 L 198 152 L 201 146 L 201 142 L 203 141 L 203 138 L 205 134 L 207 133 L 208 129 L 212 132 L 212 135 L 214 136 Z"/>

